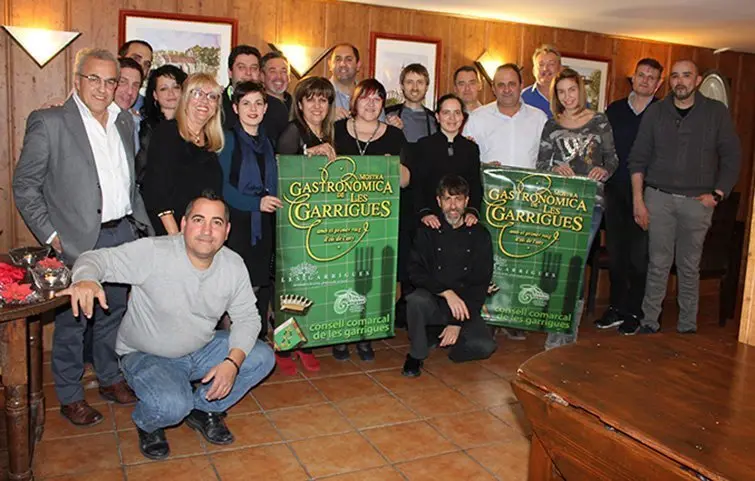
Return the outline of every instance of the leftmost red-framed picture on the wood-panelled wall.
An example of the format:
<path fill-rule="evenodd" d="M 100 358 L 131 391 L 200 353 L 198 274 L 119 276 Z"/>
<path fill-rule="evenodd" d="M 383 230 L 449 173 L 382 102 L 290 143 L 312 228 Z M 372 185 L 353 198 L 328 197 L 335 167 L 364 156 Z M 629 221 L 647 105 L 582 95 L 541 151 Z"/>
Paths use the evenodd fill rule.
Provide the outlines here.
<path fill-rule="evenodd" d="M 236 45 L 237 27 L 232 18 L 121 10 L 118 45 L 144 40 L 154 49 L 152 68 L 172 64 L 187 74 L 206 72 L 225 86 L 226 60 Z"/>

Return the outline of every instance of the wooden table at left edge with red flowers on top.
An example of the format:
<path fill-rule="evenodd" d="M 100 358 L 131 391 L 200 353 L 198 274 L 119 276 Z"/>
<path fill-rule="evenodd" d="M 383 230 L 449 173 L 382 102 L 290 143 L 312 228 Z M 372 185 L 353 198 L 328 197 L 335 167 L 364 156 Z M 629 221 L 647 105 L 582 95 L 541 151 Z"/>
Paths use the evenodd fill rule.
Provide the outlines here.
<path fill-rule="evenodd" d="M 40 315 L 67 302 L 66 297 L 0 308 L 0 362 L 10 481 L 33 479 L 34 443 L 42 437 L 45 424 Z"/>

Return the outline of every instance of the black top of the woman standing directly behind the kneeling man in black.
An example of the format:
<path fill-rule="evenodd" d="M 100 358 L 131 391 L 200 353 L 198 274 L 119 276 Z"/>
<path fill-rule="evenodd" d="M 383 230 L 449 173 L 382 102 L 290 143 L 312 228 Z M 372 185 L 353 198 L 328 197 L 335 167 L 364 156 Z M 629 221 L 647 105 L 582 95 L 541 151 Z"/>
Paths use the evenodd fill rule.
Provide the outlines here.
<path fill-rule="evenodd" d="M 436 132 L 413 145 L 412 157 L 415 213 L 420 218 L 427 214 L 441 216 L 436 189 L 445 175 L 458 175 L 469 183 L 469 207 L 479 213 L 482 182 L 477 144 L 461 135 L 449 142 L 446 134 Z"/>

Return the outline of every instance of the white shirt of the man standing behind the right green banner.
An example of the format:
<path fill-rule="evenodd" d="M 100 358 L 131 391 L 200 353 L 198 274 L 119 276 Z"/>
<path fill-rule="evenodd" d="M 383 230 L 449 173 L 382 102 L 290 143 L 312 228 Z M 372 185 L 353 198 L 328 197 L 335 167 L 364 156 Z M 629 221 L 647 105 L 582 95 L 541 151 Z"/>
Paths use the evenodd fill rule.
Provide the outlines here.
<path fill-rule="evenodd" d="M 469 114 L 464 136 L 477 142 L 483 164 L 500 162 L 506 167 L 534 169 L 547 120 L 540 109 L 524 102 L 512 117 L 502 114 L 492 102 Z"/>

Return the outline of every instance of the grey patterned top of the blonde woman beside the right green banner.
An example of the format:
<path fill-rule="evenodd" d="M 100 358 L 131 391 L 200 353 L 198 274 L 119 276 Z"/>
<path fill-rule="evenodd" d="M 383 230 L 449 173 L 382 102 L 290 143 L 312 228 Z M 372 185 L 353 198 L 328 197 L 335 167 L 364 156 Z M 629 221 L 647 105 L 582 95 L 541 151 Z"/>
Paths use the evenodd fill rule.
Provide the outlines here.
<path fill-rule="evenodd" d="M 568 164 L 578 176 L 586 177 L 593 167 L 602 167 L 609 177 L 613 175 L 619 158 L 613 144 L 611 124 L 605 114 L 596 113 L 576 129 L 567 129 L 553 119 L 546 122 L 540 137 L 537 169 L 551 171 L 554 166 L 562 164 Z M 598 183 L 595 202 L 604 206 L 603 182 Z"/>

